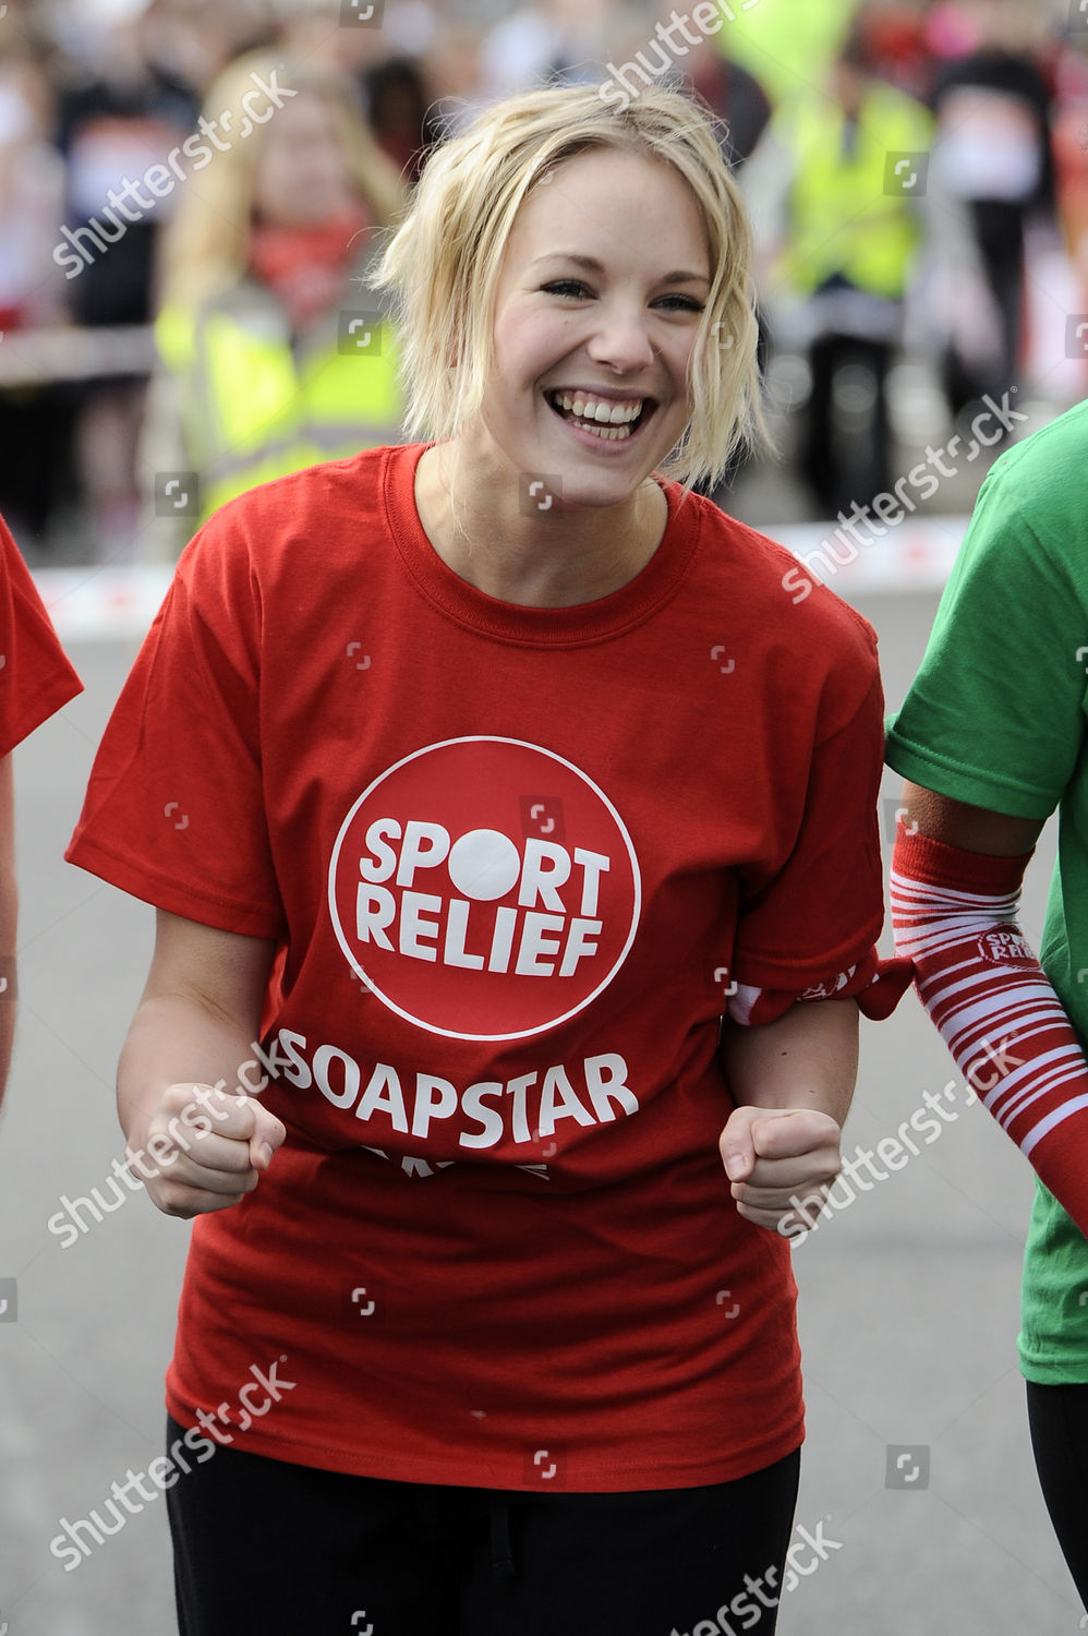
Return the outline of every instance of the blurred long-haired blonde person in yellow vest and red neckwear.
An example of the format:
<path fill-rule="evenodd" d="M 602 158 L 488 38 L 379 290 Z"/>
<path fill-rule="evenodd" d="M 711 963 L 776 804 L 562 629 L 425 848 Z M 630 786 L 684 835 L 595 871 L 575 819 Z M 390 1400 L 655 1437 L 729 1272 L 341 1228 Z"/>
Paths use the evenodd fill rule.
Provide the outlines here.
<path fill-rule="evenodd" d="M 353 82 L 329 69 L 245 56 L 206 116 L 227 128 L 232 110 L 241 129 L 242 98 L 276 70 L 294 95 L 188 182 L 164 244 L 165 375 L 144 465 L 195 474 L 198 494 L 180 491 L 172 548 L 259 483 L 401 435 L 393 334 L 362 283 L 375 231 L 404 203 L 398 169 Z"/>

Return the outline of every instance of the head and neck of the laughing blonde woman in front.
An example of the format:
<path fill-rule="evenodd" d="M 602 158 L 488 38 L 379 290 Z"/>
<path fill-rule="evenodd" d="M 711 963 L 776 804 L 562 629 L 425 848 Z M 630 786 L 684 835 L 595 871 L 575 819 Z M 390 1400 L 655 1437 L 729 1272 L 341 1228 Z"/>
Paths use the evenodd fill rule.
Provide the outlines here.
<path fill-rule="evenodd" d="M 672 92 L 489 110 L 425 167 L 375 283 L 402 303 L 407 424 L 440 438 L 420 520 L 494 597 L 620 589 L 664 535 L 653 473 L 715 483 L 762 434 L 748 224 Z"/>

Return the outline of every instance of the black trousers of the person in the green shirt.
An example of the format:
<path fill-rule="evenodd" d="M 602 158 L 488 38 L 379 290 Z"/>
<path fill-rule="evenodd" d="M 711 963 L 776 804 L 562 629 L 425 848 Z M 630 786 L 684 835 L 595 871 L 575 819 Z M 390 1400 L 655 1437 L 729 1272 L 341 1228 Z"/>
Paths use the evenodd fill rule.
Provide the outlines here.
<path fill-rule="evenodd" d="M 1088 1608 L 1088 1386 L 1027 1381 L 1027 1423 L 1042 1497 Z"/>

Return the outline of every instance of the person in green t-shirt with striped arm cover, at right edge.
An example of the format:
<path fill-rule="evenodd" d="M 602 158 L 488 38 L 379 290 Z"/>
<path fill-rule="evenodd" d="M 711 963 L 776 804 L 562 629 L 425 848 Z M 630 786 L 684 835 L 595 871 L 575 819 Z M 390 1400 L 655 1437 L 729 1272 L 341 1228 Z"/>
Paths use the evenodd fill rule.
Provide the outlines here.
<path fill-rule="evenodd" d="M 1050 1518 L 1088 1605 L 1088 404 L 978 496 L 887 759 L 908 780 L 897 952 L 969 1083 L 1036 1170 L 1019 1361 Z M 1042 825 L 1039 959 L 1016 924 Z"/>

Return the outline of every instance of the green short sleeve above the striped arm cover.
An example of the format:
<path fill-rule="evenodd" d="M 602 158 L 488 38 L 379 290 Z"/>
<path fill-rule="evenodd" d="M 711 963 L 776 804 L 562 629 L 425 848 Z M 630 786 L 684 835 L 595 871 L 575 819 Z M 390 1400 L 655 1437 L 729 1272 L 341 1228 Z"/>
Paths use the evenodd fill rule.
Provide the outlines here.
<path fill-rule="evenodd" d="M 903 777 L 1013 818 L 1054 811 L 1085 730 L 1077 538 L 1067 558 L 1027 522 L 1014 481 L 1000 470 L 987 479 L 921 669 L 888 723 L 887 759 Z"/>

